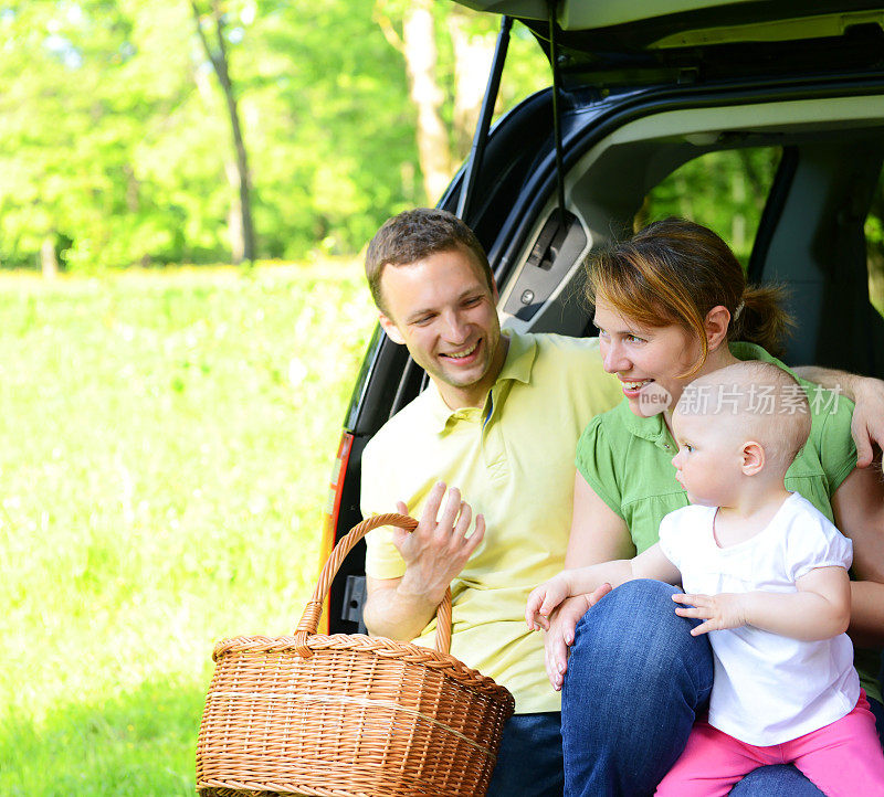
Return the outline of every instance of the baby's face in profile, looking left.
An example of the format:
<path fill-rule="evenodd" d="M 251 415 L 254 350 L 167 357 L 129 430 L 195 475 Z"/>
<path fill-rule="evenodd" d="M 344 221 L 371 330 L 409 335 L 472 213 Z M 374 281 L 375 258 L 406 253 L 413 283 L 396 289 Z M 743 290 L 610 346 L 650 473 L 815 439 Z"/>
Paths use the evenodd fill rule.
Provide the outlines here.
<path fill-rule="evenodd" d="M 683 414 L 676 408 L 672 428 L 678 453 L 672 458 L 675 478 L 691 503 L 707 507 L 734 504 L 740 483 L 743 446 L 730 424 L 737 417 Z"/>

